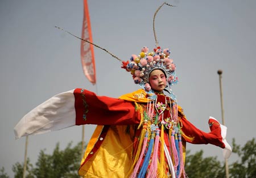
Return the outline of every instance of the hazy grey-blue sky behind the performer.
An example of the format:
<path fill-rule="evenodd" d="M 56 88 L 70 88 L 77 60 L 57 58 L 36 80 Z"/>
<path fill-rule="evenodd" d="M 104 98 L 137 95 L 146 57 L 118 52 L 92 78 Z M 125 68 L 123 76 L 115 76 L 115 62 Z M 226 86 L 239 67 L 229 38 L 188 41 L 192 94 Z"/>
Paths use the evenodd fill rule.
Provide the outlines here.
<path fill-rule="evenodd" d="M 81 36 L 83 2 L 80 0 L 0 1 L 0 168 L 12 176 L 12 166 L 24 160 L 26 138 L 15 140 L 20 118 L 43 101 L 73 88 L 118 98 L 139 89 L 121 63 L 94 48 L 96 85 L 84 76 L 80 40 L 55 26 Z M 93 41 L 123 61 L 143 46 L 155 48 L 152 18 L 163 1 L 88 0 Z M 208 132 L 208 118 L 221 122 L 221 69 L 225 125 L 229 143 L 243 145 L 255 137 L 256 125 L 256 1 L 167 1 L 156 16 L 159 46 L 171 49 L 179 83 L 172 88 L 188 120 Z M 94 125 L 85 125 L 88 142 Z M 81 141 L 81 126 L 28 137 L 28 157 L 35 163 L 39 151 L 51 154 L 60 143 Z M 217 156 L 212 145 L 191 145 L 192 152 Z M 229 162 L 235 160 L 230 157 Z"/>

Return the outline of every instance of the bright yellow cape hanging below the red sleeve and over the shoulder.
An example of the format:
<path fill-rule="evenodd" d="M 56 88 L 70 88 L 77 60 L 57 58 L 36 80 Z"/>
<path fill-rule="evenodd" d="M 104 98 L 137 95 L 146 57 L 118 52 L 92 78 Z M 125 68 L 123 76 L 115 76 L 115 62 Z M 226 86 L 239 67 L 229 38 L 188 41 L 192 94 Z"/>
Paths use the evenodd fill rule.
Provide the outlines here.
<path fill-rule="evenodd" d="M 147 103 L 146 95 L 144 90 L 137 90 L 130 94 L 122 95 L 119 99 L 135 103 Z M 182 112 L 180 107 L 179 112 Z M 102 133 L 104 127 L 109 128 L 105 137 L 102 137 L 105 134 Z M 82 177 L 129 177 L 130 175 L 127 173 L 130 170 L 131 159 L 133 158 L 133 133 L 135 132 L 130 130 L 130 134 L 127 134 L 126 129 L 127 125 L 97 125 L 86 147 L 79 175 Z M 133 128 L 131 127 L 131 129 Z M 102 143 L 100 147 L 96 148 L 96 144 L 99 142 Z M 183 144 L 183 146 L 185 145 Z M 185 147 L 183 150 L 185 154 Z M 88 156 L 91 157 L 88 159 Z M 183 158 L 185 158 L 185 155 Z"/>

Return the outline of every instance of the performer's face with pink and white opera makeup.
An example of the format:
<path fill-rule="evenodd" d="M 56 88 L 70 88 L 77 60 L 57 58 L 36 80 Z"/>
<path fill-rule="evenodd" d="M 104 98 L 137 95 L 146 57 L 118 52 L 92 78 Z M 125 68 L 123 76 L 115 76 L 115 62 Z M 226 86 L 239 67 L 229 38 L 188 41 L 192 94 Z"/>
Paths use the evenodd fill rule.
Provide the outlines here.
<path fill-rule="evenodd" d="M 166 75 L 162 70 L 156 69 L 150 73 L 149 83 L 154 91 L 163 91 L 166 88 Z"/>

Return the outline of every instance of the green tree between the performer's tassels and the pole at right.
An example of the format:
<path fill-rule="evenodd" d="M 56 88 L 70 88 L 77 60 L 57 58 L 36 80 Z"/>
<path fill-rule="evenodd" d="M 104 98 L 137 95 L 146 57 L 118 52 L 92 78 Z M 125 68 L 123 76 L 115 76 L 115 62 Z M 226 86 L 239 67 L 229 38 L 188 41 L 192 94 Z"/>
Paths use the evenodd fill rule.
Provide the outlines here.
<path fill-rule="evenodd" d="M 225 177 L 225 165 L 217 157 L 203 158 L 203 150 L 190 155 L 187 151 L 185 171 L 189 178 L 193 177 Z"/>

